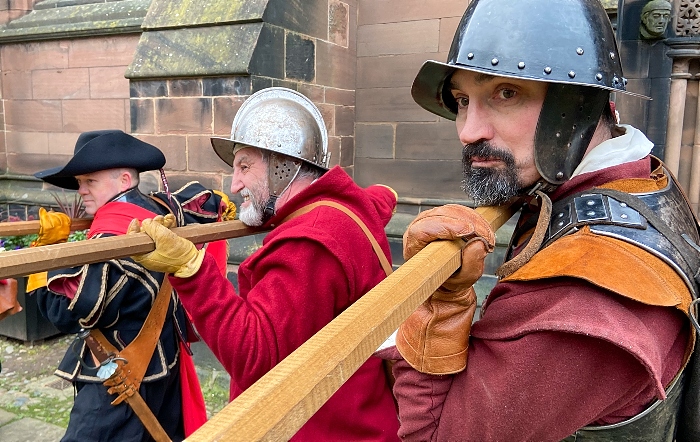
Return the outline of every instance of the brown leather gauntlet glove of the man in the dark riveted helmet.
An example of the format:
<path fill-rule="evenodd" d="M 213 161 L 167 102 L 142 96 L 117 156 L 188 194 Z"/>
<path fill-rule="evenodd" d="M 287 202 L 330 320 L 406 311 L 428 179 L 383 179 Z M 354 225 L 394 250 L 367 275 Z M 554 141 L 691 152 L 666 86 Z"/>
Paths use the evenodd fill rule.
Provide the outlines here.
<path fill-rule="evenodd" d="M 458 204 L 419 214 L 404 234 L 404 258 L 428 243 L 461 238 L 461 267 L 401 324 L 396 348 L 413 368 L 423 373 L 450 374 L 467 364 L 469 330 L 476 310 L 473 285 L 484 272 L 484 259 L 493 251 L 496 235 L 476 211 Z"/>

